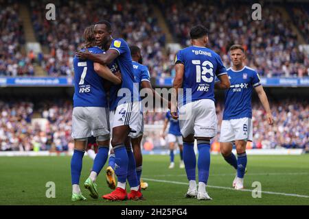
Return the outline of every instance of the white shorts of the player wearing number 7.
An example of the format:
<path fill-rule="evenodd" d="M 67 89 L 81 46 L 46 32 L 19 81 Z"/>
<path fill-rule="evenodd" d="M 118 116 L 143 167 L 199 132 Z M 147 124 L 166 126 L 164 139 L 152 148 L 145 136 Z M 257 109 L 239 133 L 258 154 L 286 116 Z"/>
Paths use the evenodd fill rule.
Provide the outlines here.
<path fill-rule="evenodd" d="M 72 138 L 106 136 L 108 131 L 108 110 L 106 107 L 74 107 L 72 113 Z"/>

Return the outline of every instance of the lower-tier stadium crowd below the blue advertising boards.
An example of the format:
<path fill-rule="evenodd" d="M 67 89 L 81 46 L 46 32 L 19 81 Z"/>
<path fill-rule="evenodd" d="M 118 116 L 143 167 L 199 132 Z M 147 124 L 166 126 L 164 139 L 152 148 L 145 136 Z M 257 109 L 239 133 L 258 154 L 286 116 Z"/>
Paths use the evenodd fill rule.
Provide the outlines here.
<path fill-rule="evenodd" d="M 44 101 L 34 105 L 27 101 L 0 101 L 0 145 L 1 151 L 67 151 L 71 139 L 71 101 Z M 218 115 L 218 141 L 222 119 L 222 103 L 216 107 Z M 309 104 L 308 101 L 284 100 L 271 102 L 274 125 L 266 122 L 265 112 L 258 103 L 253 103 L 253 148 L 309 150 Z M 44 118 L 35 120 L 34 114 Z M 146 125 L 162 125 L 164 112 L 148 112 L 144 116 Z M 155 148 L 164 148 L 161 129 L 147 134 L 146 138 Z"/>

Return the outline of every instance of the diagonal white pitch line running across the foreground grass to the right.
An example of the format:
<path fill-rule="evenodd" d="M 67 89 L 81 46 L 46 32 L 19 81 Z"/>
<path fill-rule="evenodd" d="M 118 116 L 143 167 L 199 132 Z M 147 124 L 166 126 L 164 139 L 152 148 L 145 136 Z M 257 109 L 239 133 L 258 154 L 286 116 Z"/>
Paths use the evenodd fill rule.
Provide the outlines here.
<path fill-rule="evenodd" d="M 154 182 L 159 182 L 159 183 L 172 183 L 172 184 L 179 184 L 179 185 L 189 185 L 189 183 L 183 183 L 179 181 L 168 181 L 168 180 L 161 180 L 161 179 L 149 179 L 149 178 L 144 178 L 143 180 L 147 181 L 154 181 Z M 229 187 L 223 187 L 223 186 L 216 186 L 216 185 L 207 185 L 208 188 L 216 188 L 216 189 L 222 189 L 222 190 L 233 190 L 233 191 L 240 191 L 240 192 L 252 192 L 253 190 L 235 190 L 233 188 Z M 268 192 L 268 191 L 261 191 L 264 194 L 277 194 L 277 195 L 282 195 L 282 196 L 293 196 L 293 197 L 299 197 L 299 198 L 309 198 L 309 196 L 302 195 L 302 194 L 289 194 L 289 193 L 283 193 L 283 192 Z"/>

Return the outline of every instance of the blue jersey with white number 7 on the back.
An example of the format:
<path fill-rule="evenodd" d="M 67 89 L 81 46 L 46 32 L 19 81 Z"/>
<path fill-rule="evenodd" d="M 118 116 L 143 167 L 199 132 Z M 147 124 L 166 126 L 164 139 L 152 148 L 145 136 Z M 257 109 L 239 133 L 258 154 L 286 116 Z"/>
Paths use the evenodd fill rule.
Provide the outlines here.
<path fill-rule="evenodd" d="M 88 48 L 89 52 L 100 54 L 99 47 Z M 95 73 L 93 61 L 73 59 L 74 66 L 74 95 L 73 107 L 107 107 L 106 92 L 103 79 Z"/>

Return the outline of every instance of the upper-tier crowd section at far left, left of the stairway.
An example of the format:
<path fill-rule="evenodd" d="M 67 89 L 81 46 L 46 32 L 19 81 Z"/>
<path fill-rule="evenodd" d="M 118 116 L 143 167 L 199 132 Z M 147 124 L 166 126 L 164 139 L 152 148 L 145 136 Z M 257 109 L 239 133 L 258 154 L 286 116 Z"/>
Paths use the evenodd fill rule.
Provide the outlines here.
<path fill-rule="evenodd" d="M 3 7 L 3 8 L 2 8 Z M 31 54 L 21 53 L 25 44 L 19 4 L 1 3 L 0 11 L 0 76 L 34 75 Z"/>

